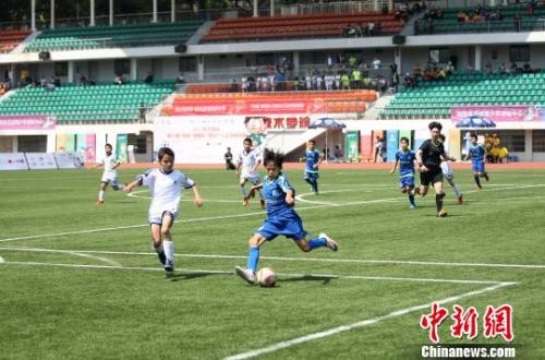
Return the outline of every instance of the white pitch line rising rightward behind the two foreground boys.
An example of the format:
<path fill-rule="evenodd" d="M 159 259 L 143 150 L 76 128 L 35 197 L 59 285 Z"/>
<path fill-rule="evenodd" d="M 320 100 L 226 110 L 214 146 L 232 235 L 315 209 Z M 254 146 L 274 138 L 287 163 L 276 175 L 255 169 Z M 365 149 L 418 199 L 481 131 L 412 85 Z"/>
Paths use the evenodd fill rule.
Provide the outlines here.
<path fill-rule="evenodd" d="M 531 185 L 519 185 L 519 187 L 510 187 L 510 188 L 498 188 L 498 189 L 491 189 L 491 190 L 485 190 L 485 191 L 500 191 L 500 190 L 537 188 L 537 187 L 545 187 L 545 184 L 531 184 Z M 303 195 L 306 195 L 306 194 L 303 194 Z M 299 195 L 296 197 L 299 200 L 305 202 L 304 200 L 300 199 L 300 196 L 302 196 L 302 195 Z M 360 201 L 360 202 L 350 202 L 350 203 L 343 203 L 343 204 L 325 204 L 324 203 L 324 204 L 313 205 L 313 206 L 307 206 L 307 207 L 299 207 L 298 211 L 324 208 L 324 207 L 332 207 L 332 206 L 351 206 L 351 205 L 364 205 L 364 204 L 375 204 L 375 203 L 384 203 L 384 202 L 395 202 L 395 201 L 398 201 L 400 199 L 405 199 L 405 196 Z M 306 202 L 312 203 L 310 201 L 306 201 Z M 201 217 L 201 218 L 192 218 L 192 219 L 182 219 L 182 220 L 179 220 L 177 223 L 181 223 L 181 224 L 201 223 L 201 221 L 209 221 L 209 220 L 247 217 L 247 216 L 255 216 L 255 215 L 263 215 L 263 214 L 265 214 L 265 212 L 235 214 L 235 215 L 222 215 L 222 216 L 210 216 L 210 217 Z M 120 227 L 101 228 L 101 229 L 88 229 L 88 230 L 76 230 L 76 231 L 66 231 L 66 232 L 57 232 L 57 233 L 32 235 L 32 236 L 26 236 L 26 237 L 0 239 L 0 242 L 19 241 L 19 240 L 34 240 L 34 239 L 51 238 L 51 237 L 65 237 L 65 236 L 71 236 L 71 235 L 104 232 L 104 231 L 112 231 L 112 230 L 124 230 L 124 229 L 141 228 L 141 227 L 147 227 L 147 226 L 149 226 L 149 225 L 148 224 L 141 224 L 141 225 L 130 225 L 130 226 L 120 226 Z"/>

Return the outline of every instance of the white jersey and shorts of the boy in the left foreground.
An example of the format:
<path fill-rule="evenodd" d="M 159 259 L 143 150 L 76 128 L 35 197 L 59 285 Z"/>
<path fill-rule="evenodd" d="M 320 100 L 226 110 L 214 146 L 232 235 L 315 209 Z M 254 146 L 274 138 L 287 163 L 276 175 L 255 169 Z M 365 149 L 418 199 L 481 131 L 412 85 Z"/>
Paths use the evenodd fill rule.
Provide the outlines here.
<path fill-rule="evenodd" d="M 142 184 L 149 188 L 152 204 L 149 205 L 149 220 L 156 223 L 165 212 L 178 216 L 178 206 L 182 196 L 182 188 L 191 189 L 195 184 L 183 172 L 172 170 L 169 173 L 160 169 L 152 169 L 141 175 Z"/>

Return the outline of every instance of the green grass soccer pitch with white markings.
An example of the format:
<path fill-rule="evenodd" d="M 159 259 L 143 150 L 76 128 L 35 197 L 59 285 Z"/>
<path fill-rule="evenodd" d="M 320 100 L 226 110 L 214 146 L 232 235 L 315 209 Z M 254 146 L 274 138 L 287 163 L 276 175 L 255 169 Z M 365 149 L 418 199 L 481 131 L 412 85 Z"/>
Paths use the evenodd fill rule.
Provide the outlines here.
<path fill-rule="evenodd" d="M 186 173 L 205 205 L 184 193 L 177 271 L 166 276 L 146 189 L 109 188 L 96 206 L 100 170 L 2 172 L 0 358 L 417 359 L 433 301 L 481 315 L 472 340 L 455 339 L 446 321 L 441 345 L 506 345 L 483 336 L 482 319 L 507 303 L 517 358 L 545 358 L 545 170 L 492 170 L 481 192 L 457 170 L 465 204 L 446 184 L 445 219 L 433 192 L 409 211 L 387 170 L 322 170 L 318 196 L 301 170 L 287 171 L 305 229 L 340 249 L 264 244 L 259 266 L 278 272 L 274 288 L 233 272 L 264 219 L 258 201 L 242 206 L 233 172 Z"/>

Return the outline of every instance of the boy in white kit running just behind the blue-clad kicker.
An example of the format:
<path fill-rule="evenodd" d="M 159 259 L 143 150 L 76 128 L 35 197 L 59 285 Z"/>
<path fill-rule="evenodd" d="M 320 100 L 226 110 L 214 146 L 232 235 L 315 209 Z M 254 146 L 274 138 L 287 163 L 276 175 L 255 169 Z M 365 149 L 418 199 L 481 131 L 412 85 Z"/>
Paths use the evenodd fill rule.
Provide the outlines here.
<path fill-rule="evenodd" d="M 259 173 L 257 168 L 262 164 L 262 152 L 258 147 L 252 148 L 252 139 L 246 137 L 243 142 L 244 149 L 239 154 L 237 160 L 237 172 L 235 176 L 240 176 L 240 190 L 243 197 L 246 197 L 247 190 L 244 188 L 246 181 L 250 181 L 253 185 L 261 183 Z M 242 171 L 241 171 L 242 168 Z M 262 208 L 265 209 L 265 200 L 263 199 L 263 192 L 259 191 Z M 243 203 L 244 204 L 244 203 Z"/>

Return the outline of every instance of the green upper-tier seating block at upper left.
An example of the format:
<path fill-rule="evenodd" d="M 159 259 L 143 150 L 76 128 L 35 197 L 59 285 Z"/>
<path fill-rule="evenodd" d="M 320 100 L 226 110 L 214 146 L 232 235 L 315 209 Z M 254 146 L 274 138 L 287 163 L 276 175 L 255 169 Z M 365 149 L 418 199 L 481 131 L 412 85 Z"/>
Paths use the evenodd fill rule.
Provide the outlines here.
<path fill-rule="evenodd" d="M 47 29 L 25 51 L 179 44 L 187 40 L 203 23 L 202 20 L 186 20 L 178 23 Z"/>

